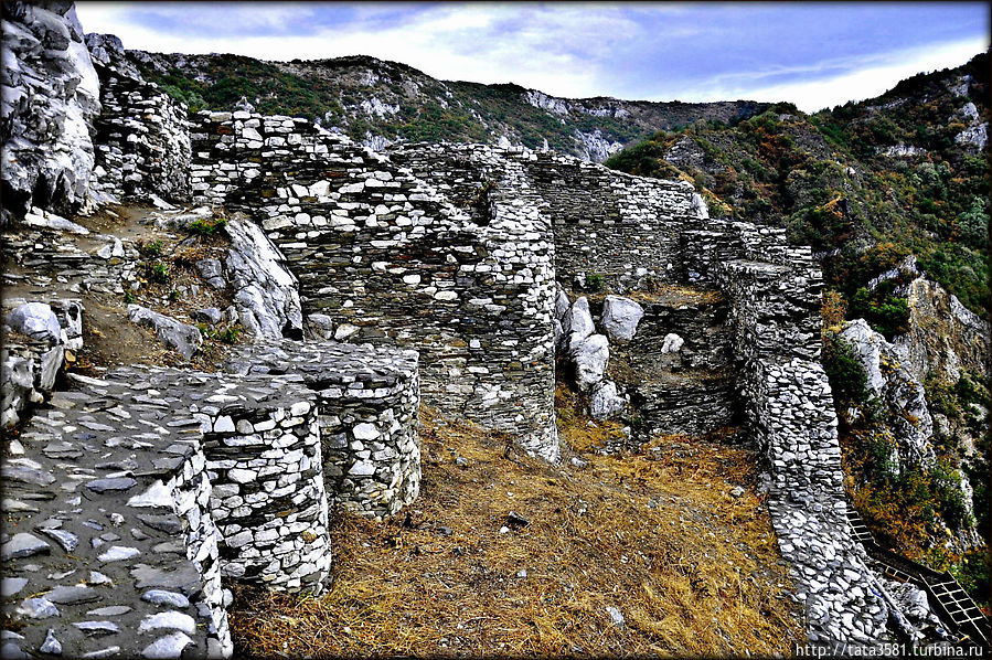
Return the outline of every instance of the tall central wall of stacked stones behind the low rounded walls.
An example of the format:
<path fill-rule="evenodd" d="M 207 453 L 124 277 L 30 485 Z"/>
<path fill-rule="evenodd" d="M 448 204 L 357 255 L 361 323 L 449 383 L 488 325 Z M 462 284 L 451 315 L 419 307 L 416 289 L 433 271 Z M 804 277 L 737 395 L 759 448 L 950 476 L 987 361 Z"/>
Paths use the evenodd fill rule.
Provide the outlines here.
<path fill-rule="evenodd" d="M 302 120 L 201 113 L 193 131 L 196 199 L 266 230 L 305 315 L 338 340 L 415 347 L 425 402 L 557 459 L 554 242 L 521 166 L 490 152 L 480 212 Z"/>

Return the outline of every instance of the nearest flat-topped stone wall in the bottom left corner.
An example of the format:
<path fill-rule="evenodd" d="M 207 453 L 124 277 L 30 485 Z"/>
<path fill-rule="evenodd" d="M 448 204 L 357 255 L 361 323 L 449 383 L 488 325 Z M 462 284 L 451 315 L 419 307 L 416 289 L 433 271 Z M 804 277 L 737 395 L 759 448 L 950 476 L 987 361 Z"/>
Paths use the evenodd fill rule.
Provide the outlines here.
<path fill-rule="evenodd" d="M 170 393 L 185 384 L 172 375 Z M 177 418 L 170 398 L 87 380 L 8 444 L 3 611 L 19 626 L 6 643 L 68 657 L 230 656 L 200 423 Z"/>

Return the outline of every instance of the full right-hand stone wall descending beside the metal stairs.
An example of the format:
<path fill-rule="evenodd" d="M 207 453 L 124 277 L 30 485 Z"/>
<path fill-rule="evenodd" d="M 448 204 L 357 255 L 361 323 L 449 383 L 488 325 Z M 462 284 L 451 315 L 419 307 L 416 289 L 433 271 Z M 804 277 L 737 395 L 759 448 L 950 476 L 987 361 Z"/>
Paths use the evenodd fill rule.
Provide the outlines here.
<path fill-rule="evenodd" d="M 767 460 L 768 509 L 807 634 L 828 648 L 876 643 L 890 635 L 892 599 L 846 518 L 838 419 L 819 362 L 820 272 L 810 249 L 787 245 L 780 231 L 730 228 L 743 258 L 715 274 L 732 304 L 738 390 Z"/>

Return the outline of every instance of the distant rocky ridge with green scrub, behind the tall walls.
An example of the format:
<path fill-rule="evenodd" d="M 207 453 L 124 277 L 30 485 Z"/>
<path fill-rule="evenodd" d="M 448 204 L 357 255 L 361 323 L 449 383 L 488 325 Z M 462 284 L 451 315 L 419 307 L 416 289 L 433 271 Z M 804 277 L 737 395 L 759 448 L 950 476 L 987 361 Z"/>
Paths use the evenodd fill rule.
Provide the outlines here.
<path fill-rule="evenodd" d="M 565 99 L 513 84 L 438 81 L 364 55 L 307 62 L 142 51 L 128 56 L 146 79 L 191 110 L 231 109 L 244 96 L 260 113 L 312 118 L 376 147 L 397 140 L 546 145 L 601 161 L 654 131 L 698 119 L 733 121 L 768 105 Z"/>

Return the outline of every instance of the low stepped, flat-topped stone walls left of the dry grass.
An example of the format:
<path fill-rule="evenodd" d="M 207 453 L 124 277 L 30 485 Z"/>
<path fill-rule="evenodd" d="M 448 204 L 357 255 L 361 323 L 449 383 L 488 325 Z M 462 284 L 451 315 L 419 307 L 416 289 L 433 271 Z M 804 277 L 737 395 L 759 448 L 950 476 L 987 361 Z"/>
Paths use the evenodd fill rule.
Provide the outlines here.
<path fill-rule="evenodd" d="M 230 656 L 222 577 L 320 594 L 329 504 L 416 498 L 415 353 L 287 341 L 227 369 L 73 376 L 10 443 L 2 593 L 24 625 L 6 643 Z M 344 447 L 365 457 L 346 472 Z"/>

